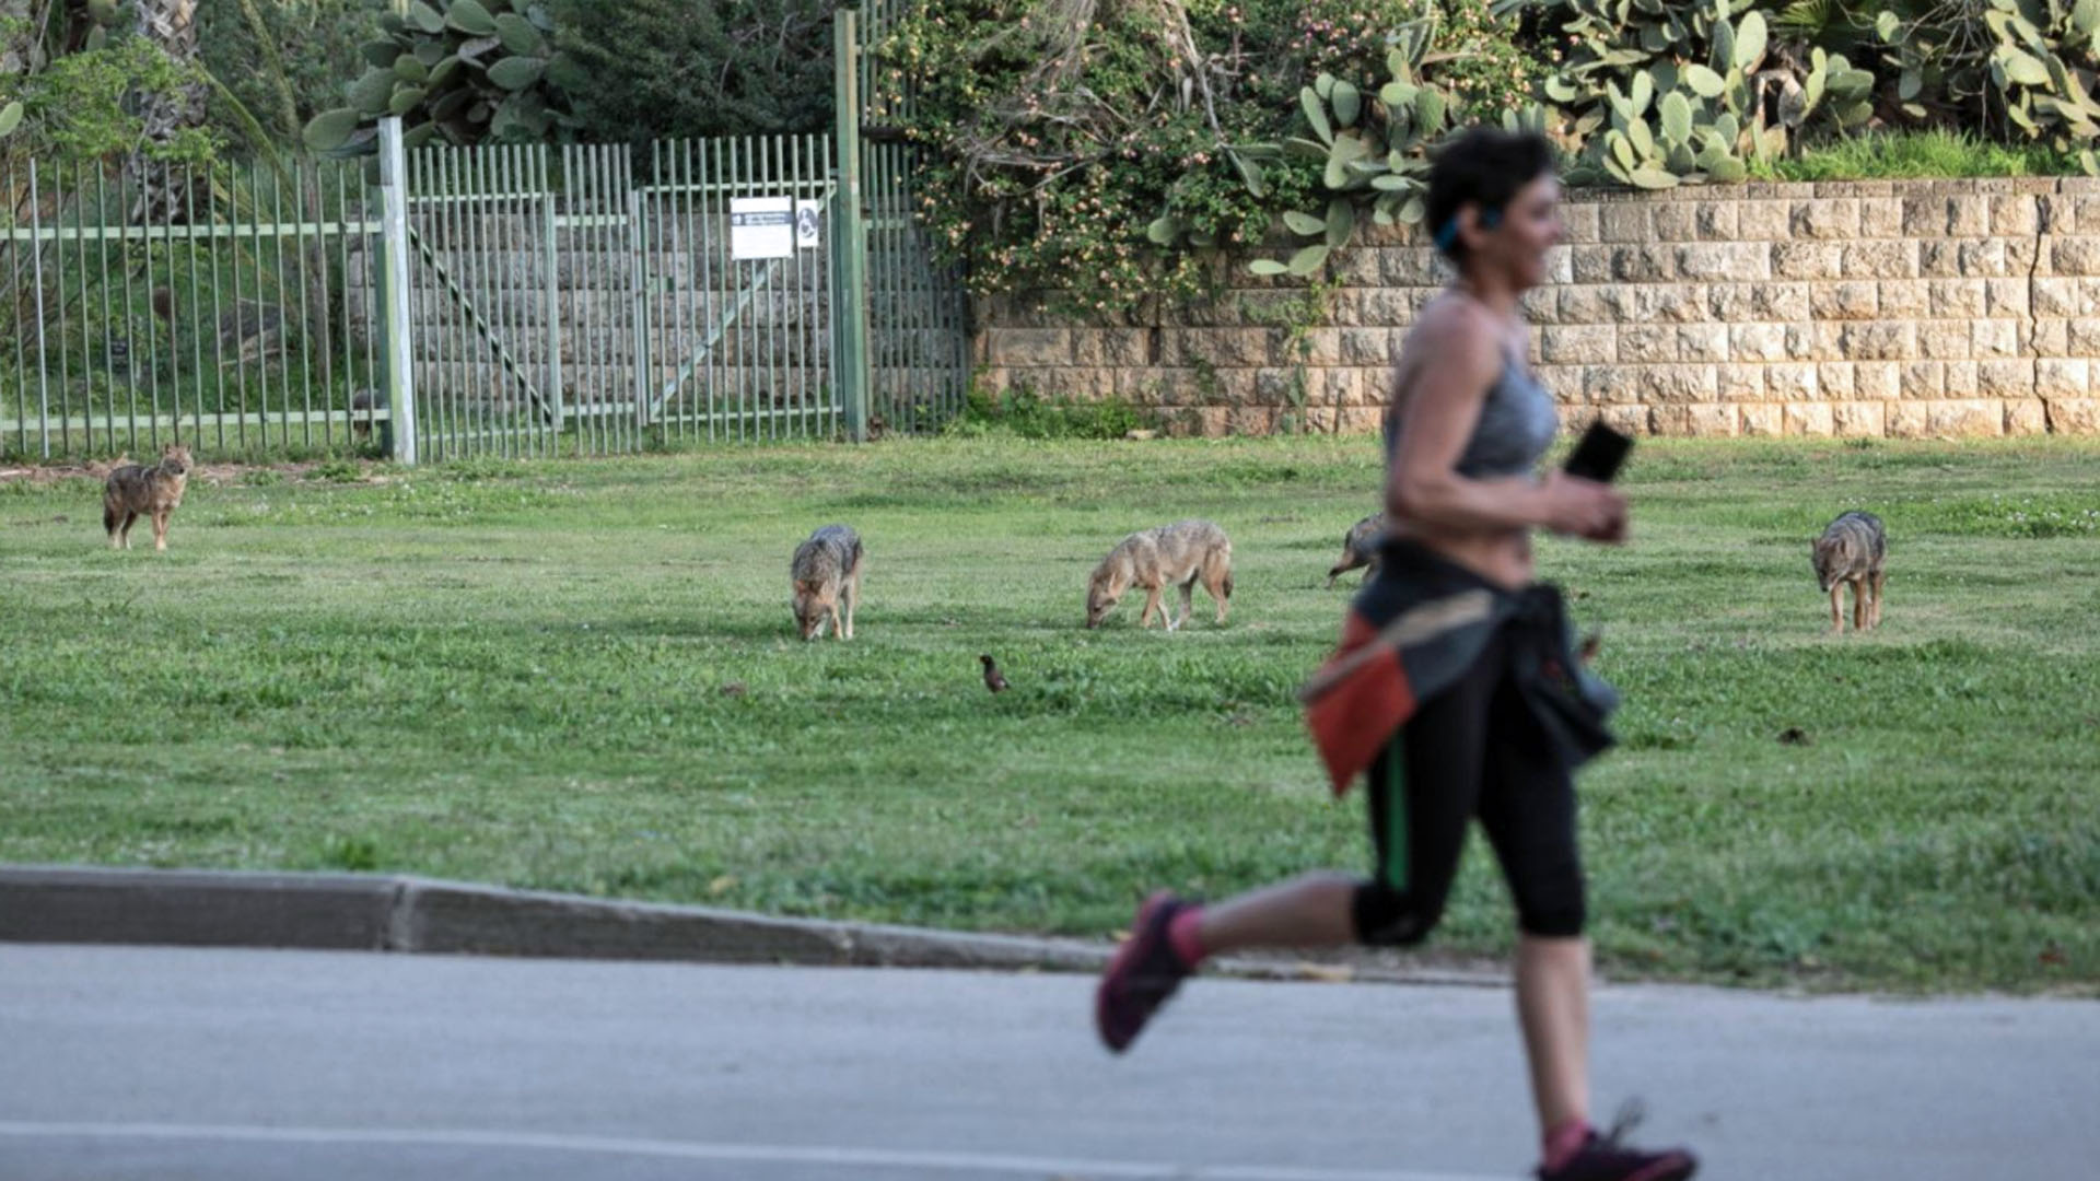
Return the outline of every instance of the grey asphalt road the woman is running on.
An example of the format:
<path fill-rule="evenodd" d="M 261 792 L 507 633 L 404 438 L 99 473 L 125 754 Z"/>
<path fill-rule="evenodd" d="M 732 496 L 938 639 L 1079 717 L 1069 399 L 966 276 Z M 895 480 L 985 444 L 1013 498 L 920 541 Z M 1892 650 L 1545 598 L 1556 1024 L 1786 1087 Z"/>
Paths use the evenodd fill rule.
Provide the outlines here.
<path fill-rule="evenodd" d="M 1510 994 L 0 944 L 0 1177 L 1480 1181 Z M 2100 1004 L 1606 988 L 1602 1114 L 1712 1179 L 2100 1177 Z"/>

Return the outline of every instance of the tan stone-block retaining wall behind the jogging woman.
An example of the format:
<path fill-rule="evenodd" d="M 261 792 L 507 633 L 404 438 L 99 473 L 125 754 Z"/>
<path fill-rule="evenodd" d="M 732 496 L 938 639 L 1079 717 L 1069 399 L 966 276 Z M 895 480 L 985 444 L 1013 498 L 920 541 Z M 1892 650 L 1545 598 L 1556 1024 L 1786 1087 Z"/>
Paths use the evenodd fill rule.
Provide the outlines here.
<path fill-rule="evenodd" d="M 2100 181 L 1892 181 L 1579 193 L 1533 364 L 1575 418 L 1659 435 L 2100 431 Z M 1302 286 L 1231 265 L 1216 301 L 1077 324 L 979 301 L 995 389 L 1117 395 L 1178 433 L 1376 429 L 1443 265 L 1380 231 L 1300 345 Z"/>

